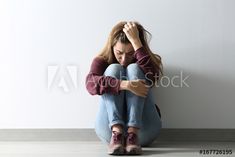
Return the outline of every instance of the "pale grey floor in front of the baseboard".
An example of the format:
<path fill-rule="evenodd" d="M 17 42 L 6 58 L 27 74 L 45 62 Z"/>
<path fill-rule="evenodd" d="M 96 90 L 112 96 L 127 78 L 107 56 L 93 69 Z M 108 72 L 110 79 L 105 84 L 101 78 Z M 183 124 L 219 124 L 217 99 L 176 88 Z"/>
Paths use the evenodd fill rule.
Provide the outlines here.
<path fill-rule="evenodd" d="M 202 149 L 232 150 L 232 155 L 202 155 Z M 156 142 L 143 148 L 143 157 L 235 156 L 234 142 Z M 106 146 L 99 141 L 0 142 L 0 157 L 105 157 Z"/>

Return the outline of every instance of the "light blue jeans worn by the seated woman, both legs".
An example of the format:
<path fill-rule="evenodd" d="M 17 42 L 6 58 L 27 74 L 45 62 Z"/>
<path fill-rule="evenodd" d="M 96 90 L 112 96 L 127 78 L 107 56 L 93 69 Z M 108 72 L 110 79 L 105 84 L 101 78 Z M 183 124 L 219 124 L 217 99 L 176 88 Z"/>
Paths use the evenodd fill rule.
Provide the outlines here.
<path fill-rule="evenodd" d="M 105 70 L 104 75 L 121 80 L 146 80 L 143 71 L 136 63 L 129 64 L 126 68 L 120 64 L 111 64 Z M 146 98 L 127 90 L 122 90 L 117 95 L 109 93 L 101 95 L 95 122 L 97 136 L 108 144 L 112 135 L 111 126 L 120 124 L 125 132 L 130 126 L 139 128 L 140 144 L 142 146 L 151 144 L 159 135 L 162 126 L 152 90 L 153 88 L 149 89 Z"/>

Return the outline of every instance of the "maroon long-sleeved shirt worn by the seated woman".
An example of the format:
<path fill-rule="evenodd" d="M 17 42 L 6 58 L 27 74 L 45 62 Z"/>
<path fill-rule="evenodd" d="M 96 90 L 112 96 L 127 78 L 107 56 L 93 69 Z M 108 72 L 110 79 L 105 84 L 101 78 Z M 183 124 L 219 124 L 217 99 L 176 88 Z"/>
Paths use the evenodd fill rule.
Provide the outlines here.
<path fill-rule="evenodd" d="M 146 52 L 144 47 L 137 49 L 134 53 L 134 61 L 139 65 L 144 74 L 155 82 L 156 70 L 151 61 L 150 55 Z M 101 57 L 93 59 L 90 72 L 86 76 L 86 88 L 91 95 L 102 95 L 104 93 L 118 94 L 120 92 L 121 80 L 112 76 L 104 76 L 104 72 L 109 64 Z"/>

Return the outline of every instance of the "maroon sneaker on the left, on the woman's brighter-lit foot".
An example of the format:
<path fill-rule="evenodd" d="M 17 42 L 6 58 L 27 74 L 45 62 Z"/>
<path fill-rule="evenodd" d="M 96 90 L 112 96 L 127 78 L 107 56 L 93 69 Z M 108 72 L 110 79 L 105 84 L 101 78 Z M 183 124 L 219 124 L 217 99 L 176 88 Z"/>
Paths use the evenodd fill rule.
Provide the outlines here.
<path fill-rule="evenodd" d="M 112 137 L 108 146 L 108 154 L 110 155 L 123 155 L 124 149 L 124 137 L 122 133 L 112 131 Z"/>

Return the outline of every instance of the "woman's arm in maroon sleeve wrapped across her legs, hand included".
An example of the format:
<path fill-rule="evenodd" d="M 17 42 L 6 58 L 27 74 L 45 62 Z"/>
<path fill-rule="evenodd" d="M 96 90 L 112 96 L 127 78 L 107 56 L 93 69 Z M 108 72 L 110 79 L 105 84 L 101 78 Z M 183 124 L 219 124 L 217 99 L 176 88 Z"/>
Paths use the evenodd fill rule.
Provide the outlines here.
<path fill-rule="evenodd" d="M 119 94 L 121 90 L 129 90 L 134 94 L 146 97 L 148 88 L 143 80 L 119 80 L 103 73 L 108 64 L 100 58 L 92 62 L 89 74 L 86 77 L 86 88 L 91 95 L 104 93 Z"/>

